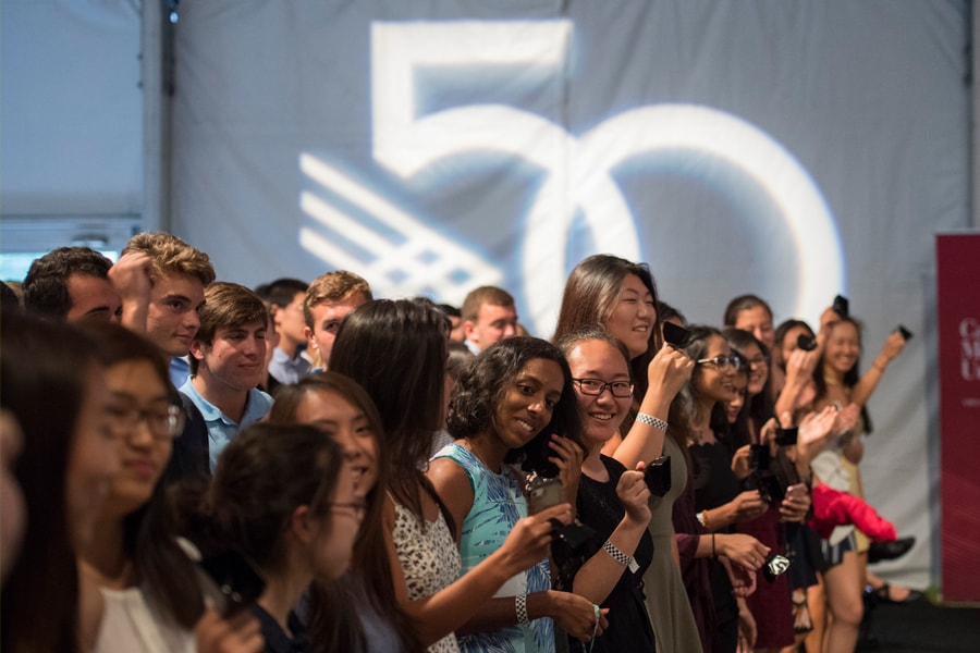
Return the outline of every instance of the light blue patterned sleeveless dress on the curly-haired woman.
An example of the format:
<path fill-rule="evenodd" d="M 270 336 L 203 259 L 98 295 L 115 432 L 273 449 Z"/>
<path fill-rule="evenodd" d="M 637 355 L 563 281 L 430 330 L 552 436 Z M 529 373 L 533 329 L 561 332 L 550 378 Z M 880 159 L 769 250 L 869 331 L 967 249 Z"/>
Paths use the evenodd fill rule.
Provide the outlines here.
<path fill-rule="evenodd" d="M 473 452 L 458 444 L 448 444 L 436 454 L 436 458 L 450 458 L 460 465 L 473 488 L 473 507 L 463 520 L 460 539 L 463 574 L 466 574 L 500 549 L 517 520 L 527 517 L 527 502 L 520 480 L 506 465 L 502 473 L 495 473 Z M 516 596 L 550 589 L 551 571 L 546 558 L 505 582 L 495 596 Z M 544 617 L 526 626 L 461 636 L 460 648 L 464 653 L 554 651 L 554 624 L 551 618 Z"/>

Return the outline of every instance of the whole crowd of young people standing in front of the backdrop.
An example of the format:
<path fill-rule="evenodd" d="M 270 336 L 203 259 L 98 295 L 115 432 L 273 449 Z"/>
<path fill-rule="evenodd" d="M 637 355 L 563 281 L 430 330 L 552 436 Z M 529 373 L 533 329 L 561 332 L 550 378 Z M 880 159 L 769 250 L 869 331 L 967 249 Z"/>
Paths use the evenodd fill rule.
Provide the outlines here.
<path fill-rule="evenodd" d="M 3 653 L 834 653 L 911 595 L 859 467 L 906 336 L 861 371 L 840 304 L 688 324 L 595 255 L 542 338 L 164 233 L 2 291 Z"/>

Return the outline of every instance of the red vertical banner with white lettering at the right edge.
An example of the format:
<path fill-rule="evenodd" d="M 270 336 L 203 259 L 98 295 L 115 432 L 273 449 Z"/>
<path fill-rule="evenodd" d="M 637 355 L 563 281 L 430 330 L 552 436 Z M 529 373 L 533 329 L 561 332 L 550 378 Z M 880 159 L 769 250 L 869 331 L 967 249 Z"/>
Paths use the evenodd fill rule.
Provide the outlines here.
<path fill-rule="evenodd" d="M 936 237 L 942 577 L 980 601 L 980 234 Z"/>

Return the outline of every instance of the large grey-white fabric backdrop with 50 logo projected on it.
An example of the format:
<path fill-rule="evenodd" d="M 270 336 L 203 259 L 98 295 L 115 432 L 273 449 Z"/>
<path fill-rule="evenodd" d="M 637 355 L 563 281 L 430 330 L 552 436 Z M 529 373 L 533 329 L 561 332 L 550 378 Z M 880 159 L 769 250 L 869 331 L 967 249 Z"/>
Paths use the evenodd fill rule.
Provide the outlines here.
<path fill-rule="evenodd" d="M 922 334 L 872 399 L 865 470 L 924 584 L 928 280 L 932 234 L 968 223 L 967 35 L 964 1 L 186 2 L 173 231 L 248 285 L 501 285 L 546 337 L 596 251 L 649 262 L 698 322 L 755 292 L 814 323 L 847 294 L 866 360 L 897 322 Z"/>

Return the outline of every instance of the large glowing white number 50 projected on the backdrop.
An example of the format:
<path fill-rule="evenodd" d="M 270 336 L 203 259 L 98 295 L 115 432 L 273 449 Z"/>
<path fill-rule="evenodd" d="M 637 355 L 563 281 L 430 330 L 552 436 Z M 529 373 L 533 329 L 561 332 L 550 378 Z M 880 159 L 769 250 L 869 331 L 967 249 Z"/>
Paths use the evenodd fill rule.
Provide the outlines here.
<path fill-rule="evenodd" d="M 755 180 L 780 207 L 797 245 L 800 288 L 794 312 L 819 313 L 826 297 L 843 287 L 834 220 L 799 163 L 754 125 L 707 107 L 658 104 L 624 111 L 576 137 L 541 115 L 499 103 L 418 112 L 417 78 L 429 66 L 479 74 L 487 65 L 534 65 L 553 70 L 551 83 L 561 89 L 572 38 L 566 20 L 375 23 L 376 161 L 407 180 L 445 157 L 495 151 L 547 172 L 527 215 L 522 269 L 534 326 L 547 333 L 558 312 L 555 288 L 564 285 L 567 232 L 576 212 L 598 250 L 642 258 L 634 218 L 611 171 L 634 157 L 709 152 Z"/>

